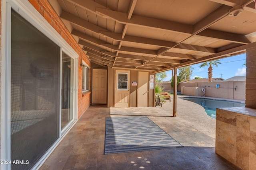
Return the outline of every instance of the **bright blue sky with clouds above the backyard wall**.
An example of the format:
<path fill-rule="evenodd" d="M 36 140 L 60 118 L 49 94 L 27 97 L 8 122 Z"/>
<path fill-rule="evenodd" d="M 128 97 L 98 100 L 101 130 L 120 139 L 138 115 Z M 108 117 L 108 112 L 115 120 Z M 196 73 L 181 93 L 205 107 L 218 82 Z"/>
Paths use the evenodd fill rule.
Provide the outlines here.
<path fill-rule="evenodd" d="M 218 67 L 212 66 L 212 78 L 228 79 L 234 76 L 245 76 L 246 66 L 243 65 L 246 62 L 246 54 L 236 55 L 233 57 L 227 57 L 220 59 Z M 190 79 L 195 77 L 208 78 L 208 67 L 201 67 L 200 64 L 191 65 L 194 70 Z M 172 70 L 166 71 L 167 77 L 163 81 L 170 81 L 172 78 Z"/>

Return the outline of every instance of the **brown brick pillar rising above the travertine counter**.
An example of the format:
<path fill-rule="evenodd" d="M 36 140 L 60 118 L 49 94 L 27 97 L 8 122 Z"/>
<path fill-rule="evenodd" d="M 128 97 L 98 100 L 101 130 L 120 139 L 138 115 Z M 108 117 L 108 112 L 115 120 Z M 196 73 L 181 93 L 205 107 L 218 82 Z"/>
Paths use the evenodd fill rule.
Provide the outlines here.
<path fill-rule="evenodd" d="M 246 107 L 256 108 L 256 47 L 246 50 Z"/>

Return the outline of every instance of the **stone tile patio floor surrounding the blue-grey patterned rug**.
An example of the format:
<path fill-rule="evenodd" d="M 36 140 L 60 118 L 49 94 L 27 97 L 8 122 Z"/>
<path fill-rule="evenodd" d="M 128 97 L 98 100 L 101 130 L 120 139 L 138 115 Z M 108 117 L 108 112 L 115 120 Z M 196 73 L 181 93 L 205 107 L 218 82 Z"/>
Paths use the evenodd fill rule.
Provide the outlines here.
<path fill-rule="evenodd" d="M 215 119 L 201 106 L 177 101 L 177 117 L 148 116 L 184 147 L 174 149 L 104 154 L 105 118 L 124 108 L 90 106 L 44 162 L 40 170 L 233 170 L 238 169 L 215 153 Z M 142 112 L 164 107 L 145 107 Z M 183 107 L 186 106 L 184 109 Z M 125 108 L 126 113 L 136 108 Z M 138 108 L 141 111 L 141 108 Z M 137 110 L 138 111 L 138 110 Z"/>

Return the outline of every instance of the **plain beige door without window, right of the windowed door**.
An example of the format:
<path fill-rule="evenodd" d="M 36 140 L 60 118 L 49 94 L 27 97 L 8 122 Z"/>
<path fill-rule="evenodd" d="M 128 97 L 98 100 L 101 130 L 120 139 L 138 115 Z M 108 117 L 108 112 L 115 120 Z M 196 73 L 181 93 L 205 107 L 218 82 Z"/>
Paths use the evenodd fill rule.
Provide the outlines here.
<path fill-rule="evenodd" d="M 138 73 L 138 107 L 148 107 L 148 72 Z"/>

